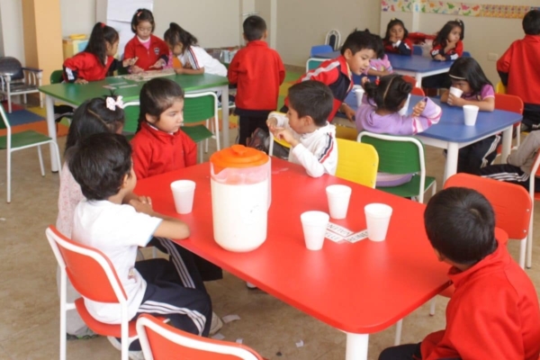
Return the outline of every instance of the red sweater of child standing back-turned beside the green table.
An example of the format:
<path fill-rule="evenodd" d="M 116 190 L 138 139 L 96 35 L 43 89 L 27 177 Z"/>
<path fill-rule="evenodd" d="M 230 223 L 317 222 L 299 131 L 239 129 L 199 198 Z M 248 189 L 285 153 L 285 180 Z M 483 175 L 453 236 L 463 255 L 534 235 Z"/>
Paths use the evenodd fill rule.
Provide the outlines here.
<path fill-rule="evenodd" d="M 236 106 L 242 110 L 275 110 L 285 78 L 282 59 L 263 40 L 247 42 L 229 65 L 230 84 L 238 84 Z"/>

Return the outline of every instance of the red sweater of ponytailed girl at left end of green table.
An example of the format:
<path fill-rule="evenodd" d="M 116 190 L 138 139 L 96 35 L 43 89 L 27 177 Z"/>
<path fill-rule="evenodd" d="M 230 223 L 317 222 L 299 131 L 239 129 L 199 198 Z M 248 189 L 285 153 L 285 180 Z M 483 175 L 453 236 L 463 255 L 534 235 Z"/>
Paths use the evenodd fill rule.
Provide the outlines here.
<path fill-rule="evenodd" d="M 77 78 L 86 81 L 103 80 L 105 76 L 116 70 L 118 60 L 107 57 L 107 65 L 103 66 L 103 61 L 94 54 L 86 51 L 79 52 L 73 58 L 64 61 L 64 80 L 73 83 Z"/>

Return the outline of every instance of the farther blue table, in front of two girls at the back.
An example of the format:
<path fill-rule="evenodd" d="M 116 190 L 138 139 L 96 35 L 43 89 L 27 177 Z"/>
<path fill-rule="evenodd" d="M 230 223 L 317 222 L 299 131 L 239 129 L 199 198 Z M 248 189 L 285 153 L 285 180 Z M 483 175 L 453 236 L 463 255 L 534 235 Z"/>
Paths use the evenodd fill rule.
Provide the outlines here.
<path fill-rule="evenodd" d="M 338 58 L 339 51 L 323 52 L 316 58 Z M 417 87 L 422 87 L 422 78 L 437 74 L 444 74 L 450 70 L 453 61 L 436 61 L 421 55 L 387 54 L 394 71 L 401 75 L 416 78 Z"/>

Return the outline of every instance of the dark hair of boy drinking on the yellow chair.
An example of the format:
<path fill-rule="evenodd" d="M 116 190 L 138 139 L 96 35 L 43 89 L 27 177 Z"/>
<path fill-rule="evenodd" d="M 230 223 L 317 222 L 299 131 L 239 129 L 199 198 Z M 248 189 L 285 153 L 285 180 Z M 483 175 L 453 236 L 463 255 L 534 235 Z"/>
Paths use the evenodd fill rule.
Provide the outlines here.
<path fill-rule="evenodd" d="M 334 107 L 334 94 L 320 81 L 302 81 L 289 88 L 289 104 L 298 117 L 311 116 L 315 125 L 324 126 Z"/>

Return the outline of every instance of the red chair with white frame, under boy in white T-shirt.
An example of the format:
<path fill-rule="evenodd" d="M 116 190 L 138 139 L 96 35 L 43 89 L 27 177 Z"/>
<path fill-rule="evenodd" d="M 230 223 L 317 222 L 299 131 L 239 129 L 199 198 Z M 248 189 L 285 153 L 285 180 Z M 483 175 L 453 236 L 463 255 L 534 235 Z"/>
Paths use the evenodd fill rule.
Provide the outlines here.
<path fill-rule="evenodd" d="M 92 247 L 64 237 L 54 226 L 45 231 L 60 266 L 60 360 L 66 360 L 66 312 L 76 309 L 88 328 L 96 334 L 121 338 L 121 359 L 128 360 L 129 338 L 137 336 L 135 320 L 128 319 L 127 296 L 108 257 Z M 67 277 L 75 290 L 94 302 L 121 306 L 121 324 L 105 324 L 90 315 L 83 298 L 66 300 Z M 163 320 L 161 320 L 163 321 Z"/>

